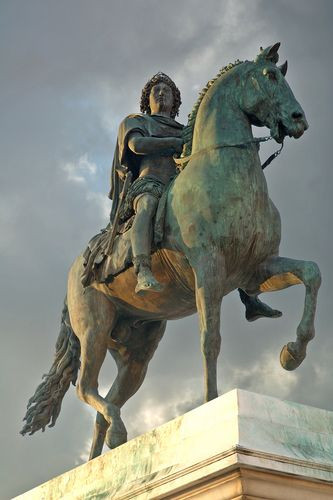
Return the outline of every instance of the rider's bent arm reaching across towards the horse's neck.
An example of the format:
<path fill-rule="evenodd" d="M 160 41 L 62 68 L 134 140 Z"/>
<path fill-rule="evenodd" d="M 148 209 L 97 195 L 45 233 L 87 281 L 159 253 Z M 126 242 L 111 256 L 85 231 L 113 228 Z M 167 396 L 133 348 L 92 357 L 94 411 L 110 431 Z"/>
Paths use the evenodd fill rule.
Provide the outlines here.
<path fill-rule="evenodd" d="M 128 147 L 137 155 L 149 155 L 154 153 L 181 153 L 183 139 L 179 137 L 144 137 L 140 133 L 133 132 L 128 138 Z"/>

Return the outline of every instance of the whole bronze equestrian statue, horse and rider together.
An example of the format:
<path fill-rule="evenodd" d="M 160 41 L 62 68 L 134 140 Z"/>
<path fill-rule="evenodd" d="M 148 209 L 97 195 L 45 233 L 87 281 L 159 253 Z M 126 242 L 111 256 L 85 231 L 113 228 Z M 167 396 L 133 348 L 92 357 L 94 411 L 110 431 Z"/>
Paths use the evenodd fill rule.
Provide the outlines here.
<path fill-rule="evenodd" d="M 281 223 L 259 144 L 308 128 L 278 66 L 279 43 L 254 61 L 223 67 L 201 91 L 186 126 L 180 92 L 164 73 L 145 85 L 141 113 L 120 124 L 112 165 L 110 223 L 75 260 L 53 365 L 29 400 L 22 434 L 52 427 L 70 383 L 97 411 L 90 459 L 127 440 L 120 411 L 141 386 L 168 320 L 198 312 L 204 399 L 218 396 L 222 299 L 238 289 L 249 321 L 277 318 L 258 296 L 303 283 L 296 339 L 282 348 L 297 368 L 314 337 L 320 271 L 279 256 Z M 269 137 L 255 138 L 252 125 Z M 275 153 L 270 161 L 277 156 Z M 118 374 L 105 397 L 98 376 L 109 351 Z"/>

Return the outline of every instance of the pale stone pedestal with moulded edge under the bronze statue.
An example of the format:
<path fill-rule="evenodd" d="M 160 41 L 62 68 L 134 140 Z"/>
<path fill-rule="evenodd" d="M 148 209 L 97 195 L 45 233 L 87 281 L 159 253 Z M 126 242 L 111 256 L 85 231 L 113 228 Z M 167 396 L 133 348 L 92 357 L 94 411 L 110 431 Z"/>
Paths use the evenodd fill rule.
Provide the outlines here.
<path fill-rule="evenodd" d="M 235 389 L 17 497 L 333 498 L 333 412 Z"/>

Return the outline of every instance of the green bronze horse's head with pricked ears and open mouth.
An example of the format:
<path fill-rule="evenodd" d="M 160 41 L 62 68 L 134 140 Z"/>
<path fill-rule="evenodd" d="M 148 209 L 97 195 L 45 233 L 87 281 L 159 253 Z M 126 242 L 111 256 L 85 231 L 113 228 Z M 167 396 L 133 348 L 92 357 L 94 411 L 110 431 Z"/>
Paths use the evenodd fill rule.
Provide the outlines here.
<path fill-rule="evenodd" d="M 261 49 L 254 62 L 249 62 L 241 108 L 251 123 L 266 126 L 271 136 L 281 143 L 285 136 L 301 137 L 308 128 L 304 111 L 285 80 L 287 61 L 277 66 L 280 43 Z"/>

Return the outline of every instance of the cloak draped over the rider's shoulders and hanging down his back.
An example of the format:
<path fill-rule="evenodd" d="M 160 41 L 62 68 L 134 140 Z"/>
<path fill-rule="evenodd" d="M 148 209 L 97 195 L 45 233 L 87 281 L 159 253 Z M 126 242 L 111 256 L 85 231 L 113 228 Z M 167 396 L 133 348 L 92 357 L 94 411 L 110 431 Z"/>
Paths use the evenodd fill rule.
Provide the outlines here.
<path fill-rule="evenodd" d="M 143 137 L 181 137 L 183 128 L 184 125 L 176 122 L 173 118 L 161 115 L 132 114 L 121 122 L 111 168 L 111 190 L 109 193 L 109 198 L 112 200 L 111 223 L 114 220 L 119 194 L 124 184 L 119 175 L 119 172 L 122 172 L 121 167 L 132 172 L 132 182 L 138 178 L 140 173 L 142 155 L 133 153 L 128 147 L 129 135 L 138 132 Z"/>

